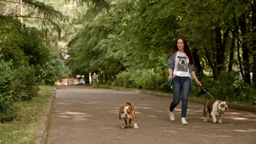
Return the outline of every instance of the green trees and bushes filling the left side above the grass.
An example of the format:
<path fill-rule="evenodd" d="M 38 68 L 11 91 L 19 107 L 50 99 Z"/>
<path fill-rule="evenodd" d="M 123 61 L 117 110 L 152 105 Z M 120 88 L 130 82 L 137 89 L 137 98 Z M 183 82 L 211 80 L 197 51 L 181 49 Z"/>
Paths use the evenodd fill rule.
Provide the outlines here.
<path fill-rule="evenodd" d="M 0 3 L 2 8 L 2 3 L 6 6 L 5 3 L 9 1 L 0 1 Z M 25 9 L 28 11 L 23 13 L 25 15 L 15 12 L 8 14 L 9 10 L 12 10 L 10 7 L 14 4 L 12 2 L 9 9 L 0 10 L 2 14 L 6 11 L 6 15 L 0 14 L 0 118 L 2 122 L 12 121 L 17 116 L 18 109 L 13 106 L 14 101 L 31 100 L 38 96 L 39 82 L 54 84 L 57 79 L 67 77 L 69 74 L 60 59 L 62 53 L 53 51 L 51 43 L 43 38 L 46 36 L 46 40 L 49 40 L 47 39 L 49 28 L 57 29 L 60 33 L 60 27 L 55 22 L 65 21 L 66 17 L 59 11 L 55 11 L 52 6 L 41 2 L 26 0 L 23 3 L 27 4 Z M 32 12 L 29 6 L 33 6 L 36 12 L 35 10 Z M 43 17 L 41 21 L 43 29 L 28 27 L 29 24 L 22 25 L 24 23 L 13 18 L 23 17 L 23 20 L 28 22 L 26 18 L 34 14 L 38 18 Z M 38 21 L 33 22 L 35 26 Z M 49 22 L 51 24 L 47 25 Z M 45 32 L 44 35 L 42 31 Z"/>

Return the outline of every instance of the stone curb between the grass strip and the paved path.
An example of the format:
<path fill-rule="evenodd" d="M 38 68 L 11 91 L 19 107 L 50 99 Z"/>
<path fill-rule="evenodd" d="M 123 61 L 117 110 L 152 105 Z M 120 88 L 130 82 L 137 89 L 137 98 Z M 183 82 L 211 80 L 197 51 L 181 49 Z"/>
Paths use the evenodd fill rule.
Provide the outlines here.
<path fill-rule="evenodd" d="M 51 113 L 53 104 L 56 98 L 56 90 L 54 90 L 51 100 L 47 103 L 47 108 L 45 114 L 43 115 L 39 127 L 35 132 L 35 142 L 34 144 L 45 144 L 47 141 L 47 132 L 50 126 Z"/>

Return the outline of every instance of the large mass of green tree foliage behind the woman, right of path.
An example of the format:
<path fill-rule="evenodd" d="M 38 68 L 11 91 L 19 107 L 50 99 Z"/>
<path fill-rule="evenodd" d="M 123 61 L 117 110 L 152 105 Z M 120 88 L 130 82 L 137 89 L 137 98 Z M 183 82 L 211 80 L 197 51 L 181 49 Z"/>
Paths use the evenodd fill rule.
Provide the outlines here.
<path fill-rule="evenodd" d="M 241 50 L 242 45 L 249 50 L 250 66 L 254 65 L 255 31 L 252 29 L 251 1 L 112 0 L 108 12 L 83 5 L 85 1 L 76 1 L 78 6 L 75 8 L 73 1 L 65 2 L 67 15 L 71 16 L 72 22 L 70 26 L 63 26 L 66 33 L 62 40 L 63 43 L 71 40 L 68 44 L 68 66 L 72 75 L 87 75 L 96 71 L 101 82 L 111 83 L 118 78 L 115 81 L 118 85 L 160 89 L 168 75 L 167 55 L 175 38 L 183 36 L 190 48 L 198 50 L 198 62 L 203 67 L 204 75 L 207 75 L 202 83 L 216 94 L 215 97 L 222 99 L 221 95 L 227 95 L 223 98 L 227 101 L 246 101 L 247 98 L 249 103 L 253 103 L 255 89 L 246 86 L 242 80 L 238 81 L 237 74 L 214 73 L 220 66 L 223 66 L 221 71 L 226 72 L 231 61 L 234 62 L 233 68 L 246 62 L 242 57 L 245 53 Z M 61 2 L 57 3 L 59 5 Z M 241 15 L 246 18 L 244 36 L 239 30 L 235 35 Z M 221 33 L 218 42 L 217 28 Z M 224 41 L 223 34 L 226 32 L 229 34 L 225 39 L 227 41 Z M 235 47 L 234 55 L 231 55 L 234 56 L 233 60 L 229 61 L 231 38 L 235 39 Z M 217 51 L 219 45 L 223 49 Z M 221 53 L 225 53 L 223 59 L 217 57 Z M 154 73 L 159 74 L 156 76 L 159 79 L 147 79 L 153 68 L 157 70 Z M 142 78 L 133 73 L 141 74 Z"/>

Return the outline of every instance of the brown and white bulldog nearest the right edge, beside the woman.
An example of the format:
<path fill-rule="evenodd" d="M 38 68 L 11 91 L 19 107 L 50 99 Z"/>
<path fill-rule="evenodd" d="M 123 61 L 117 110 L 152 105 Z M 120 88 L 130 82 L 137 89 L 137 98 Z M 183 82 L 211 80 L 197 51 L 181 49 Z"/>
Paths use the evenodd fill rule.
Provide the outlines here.
<path fill-rule="evenodd" d="M 204 104 L 204 122 L 208 122 L 210 116 L 212 116 L 213 123 L 217 122 L 216 116 L 219 117 L 218 122 L 222 123 L 222 115 L 227 114 L 228 111 L 228 105 L 226 101 L 214 101 L 209 100 L 206 101 Z M 207 116 L 208 114 L 208 116 Z"/>

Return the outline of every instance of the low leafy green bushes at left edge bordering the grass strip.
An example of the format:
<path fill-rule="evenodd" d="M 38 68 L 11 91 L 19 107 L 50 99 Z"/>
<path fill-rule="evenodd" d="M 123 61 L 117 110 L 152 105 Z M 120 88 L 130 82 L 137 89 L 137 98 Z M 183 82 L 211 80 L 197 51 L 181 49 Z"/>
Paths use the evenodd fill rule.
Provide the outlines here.
<path fill-rule="evenodd" d="M 18 108 L 13 105 L 17 100 L 29 100 L 38 94 L 34 69 L 20 67 L 14 69 L 12 62 L 0 62 L 0 119 L 12 121 Z"/>

